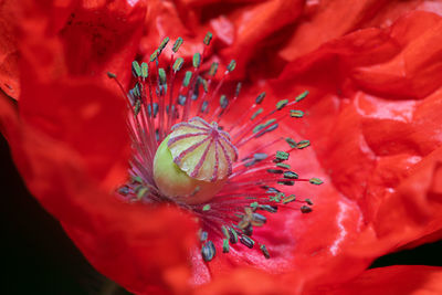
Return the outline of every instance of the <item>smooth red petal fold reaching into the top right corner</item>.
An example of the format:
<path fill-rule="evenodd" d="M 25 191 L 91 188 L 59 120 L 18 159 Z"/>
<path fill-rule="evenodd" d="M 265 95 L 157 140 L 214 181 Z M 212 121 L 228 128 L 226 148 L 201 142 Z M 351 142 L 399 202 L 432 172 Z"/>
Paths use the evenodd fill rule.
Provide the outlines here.
<path fill-rule="evenodd" d="M 399 17 L 413 10 L 442 12 L 440 3 L 434 1 L 391 2 L 379 0 L 358 1 L 348 6 L 345 0 L 312 1 L 307 4 L 305 17 L 308 21 L 301 23 L 287 46 L 280 54 L 287 61 L 318 49 L 322 44 L 340 38 L 360 28 L 388 27 Z"/>

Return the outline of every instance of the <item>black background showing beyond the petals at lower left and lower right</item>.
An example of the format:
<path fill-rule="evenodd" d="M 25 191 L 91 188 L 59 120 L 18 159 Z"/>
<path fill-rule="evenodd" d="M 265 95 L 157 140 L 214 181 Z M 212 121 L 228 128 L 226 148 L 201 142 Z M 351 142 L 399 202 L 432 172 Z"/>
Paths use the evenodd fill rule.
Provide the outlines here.
<path fill-rule="evenodd" d="M 1 294 L 129 294 L 97 273 L 54 220 L 32 198 L 0 136 L 2 217 Z M 371 267 L 393 264 L 442 266 L 442 241 L 382 256 Z M 4 289 L 6 288 L 6 289 Z"/>

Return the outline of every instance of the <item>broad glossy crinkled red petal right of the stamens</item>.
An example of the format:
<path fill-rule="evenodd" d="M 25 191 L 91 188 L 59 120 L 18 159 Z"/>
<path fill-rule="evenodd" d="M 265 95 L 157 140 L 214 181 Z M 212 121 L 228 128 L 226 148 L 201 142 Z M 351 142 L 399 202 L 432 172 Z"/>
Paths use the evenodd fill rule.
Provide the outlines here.
<path fill-rule="evenodd" d="M 442 96 L 438 88 L 442 82 L 435 72 L 427 74 L 438 69 L 440 59 L 431 54 L 431 62 L 422 62 L 421 57 L 427 56 L 424 48 L 439 52 L 440 45 L 434 48 L 430 36 L 410 38 L 423 28 L 436 36 L 439 33 L 431 29 L 439 22 L 440 17 L 417 12 L 399 20 L 391 30 L 360 30 L 293 62 L 282 75 L 285 81 L 273 84 L 275 94 L 283 97 L 304 88 L 311 91 L 309 98 L 299 105 L 309 112 L 302 122 L 308 127 L 304 124 L 293 127 L 312 140 L 319 165 L 333 186 L 351 204 L 354 213 L 360 215 L 359 221 L 352 219 L 358 223 L 354 223 L 356 240 L 348 236 L 349 244 L 343 247 L 349 256 L 340 266 L 337 264 L 339 272 L 328 272 L 338 273 L 340 278 L 345 277 L 343 272 L 355 271 L 358 261 L 361 267 L 370 256 L 394 251 L 442 228 L 436 213 L 440 196 L 430 185 L 439 178 L 442 122 L 438 114 L 442 110 Z M 396 34 L 403 28 L 409 28 L 408 34 Z M 420 54 L 410 62 L 421 65 L 414 67 L 409 78 L 427 87 L 419 92 L 419 97 L 409 91 L 407 83 L 401 86 L 385 83 L 388 86 L 382 93 L 378 92 L 379 87 L 360 85 L 356 78 L 359 74 L 355 73 L 361 69 L 370 73 L 376 69 L 376 78 L 383 82 L 382 73 L 392 73 L 390 69 L 400 65 L 403 61 L 400 56 L 415 42 L 419 46 L 414 49 Z M 423 63 L 435 66 L 423 66 Z M 378 83 L 369 82 L 368 77 L 366 81 Z M 351 226 L 343 229 L 351 232 L 348 231 Z M 327 267 L 333 267 L 333 260 L 326 262 Z M 314 259 L 312 263 L 316 263 Z M 346 268 L 348 263 L 354 265 Z M 335 276 L 326 277 L 328 282 Z M 335 277 L 336 282 L 339 277 Z"/>

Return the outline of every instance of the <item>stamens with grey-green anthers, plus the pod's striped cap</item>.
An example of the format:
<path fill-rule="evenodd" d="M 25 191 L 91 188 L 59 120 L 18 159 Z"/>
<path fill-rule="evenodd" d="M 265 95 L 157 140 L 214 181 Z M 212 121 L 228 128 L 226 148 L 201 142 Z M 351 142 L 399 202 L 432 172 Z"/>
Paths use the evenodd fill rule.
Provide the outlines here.
<path fill-rule="evenodd" d="M 210 40 L 211 34 L 208 33 L 203 43 L 209 45 Z M 275 108 L 267 113 L 261 107 L 265 98 L 265 93 L 262 93 L 234 124 L 229 124 L 224 117 L 234 107 L 241 84 L 238 84 L 231 98 L 220 95 L 220 91 L 235 62 L 232 61 L 215 82 L 218 63 L 212 63 L 208 71 L 201 71 L 204 46 L 201 54 L 193 55 L 192 70 L 179 75 L 183 66 L 183 59 L 176 57 L 182 44 L 180 38 L 171 49 L 169 65 L 160 67 L 161 53 L 168 42 L 166 38 L 150 61 L 133 63 L 135 85 L 128 93 L 115 74 L 108 74 L 127 98 L 127 124 L 133 145 L 130 179 L 117 190 L 117 194 L 130 202 L 173 203 L 194 214 L 201 224 L 199 236 L 206 262 L 214 257 L 215 244 L 222 244 L 223 253 L 239 243 L 249 249 L 257 244 L 263 255 L 270 259 L 266 246 L 252 238 L 254 228 L 265 225 L 267 214 L 276 213 L 281 208 L 311 212 L 313 202 L 309 199 L 285 194 L 284 188 L 299 181 L 313 185 L 320 185 L 322 181 L 299 178 L 287 164 L 291 152 L 309 146 L 308 140 L 296 143 L 292 138 L 278 137 L 255 145 L 257 148 L 248 155 L 241 155 L 241 151 L 244 146 L 256 144 L 261 137 L 277 129 L 278 122 L 285 117 L 303 117 L 302 110 L 284 110 L 303 99 L 307 92 L 293 101 L 277 102 Z M 180 85 L 176 82 L 178 76 L 182 76 Z M 214 196 L 202 198 L 203 202 L 186 201 L 192 193 L 180 198 L 161 190 L 158 180 L 155 180 L 154 161 L 164 140 L 177 169 L 198 181 L 224 180 L 222 188 Z M 283 140 L 287 148 L 272 151 L 272 146 Z M 196 187 L 194 193 L 198 189 Z"/>

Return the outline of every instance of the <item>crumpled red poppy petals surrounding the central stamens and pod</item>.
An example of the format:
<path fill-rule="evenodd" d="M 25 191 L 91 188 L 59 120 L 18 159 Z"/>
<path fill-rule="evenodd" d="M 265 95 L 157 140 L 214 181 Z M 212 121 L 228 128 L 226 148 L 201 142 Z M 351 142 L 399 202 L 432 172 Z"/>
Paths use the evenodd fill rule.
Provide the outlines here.
<path fill-rule="evenodd" d="M 145 18 L 144 3 L 136 1 L 22 2 L 20 101 L 17 107 L 1 97 L 0 130 L 30 190 L 98 271 L 138 294 L 441 289 L 439 267 L 364 272 L 380 255 L 441 239 L 439 3 L 152 2 Z M 190 35 L 188 57 L 203 48 L 197 40 L 208 29 L 215 38 L 203 59 L 238 56 L 239 76 L 248 77 L 225 126 L 234 126 L 260 89 L 267 92 L 266 109 L 276 97 L 309 92 L 296 104 L 303 119 L 281 120 L 276 130 L 254 140 L 255 147 L 240 148 L 242 159 L 272 138 L 309 139 L 312 147 L 293 152 L 290 165 L 303 178 L 324 180 L 319 187 L 296 183 L 286 190 L 312 197 L 313 212 L 282 206 L 276 214 L 265 213 L 266 225 L 253 239 L 266 245 L 270 260 L 256 246 L 231 245 L 231 253 L 220 253 L 223 238 L 214 234 L 217 255 L 203 261 L 212 247 L 203 241 L 203 255 L 197 250 L 193 218 L 199 212 L 204 220 L 214 203 L 179 210 L 129 203 L 113 192 L 126 182 L 130 155 L 144 150 L 130 150 L 127 108 L 105 73 L 116 73 L 129 88 L 127 67 L 137 53 L 148 61 L 164 35 Z M 15 51 L 4 48 L 2 54 Z M 167 65 L 168 52 L 161 56 Z M 161 80 L 159 74 L 159 93 Z M 131 103 L 136 107 L 136 99 Z M 147 105 L 141 112 L 148 114 Z M 286 148 L 278 141 L 272 150 Z M 256 186 L 263 176 L 250 181 Z M 138 196 L 133 185 L 120 194 Z M 233 194 L 232 187 L 225 189 Z M 240 221 L 251 217 L 244 211 Z"/>

